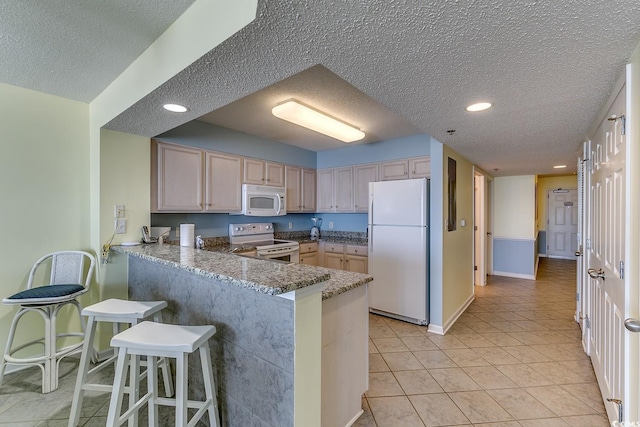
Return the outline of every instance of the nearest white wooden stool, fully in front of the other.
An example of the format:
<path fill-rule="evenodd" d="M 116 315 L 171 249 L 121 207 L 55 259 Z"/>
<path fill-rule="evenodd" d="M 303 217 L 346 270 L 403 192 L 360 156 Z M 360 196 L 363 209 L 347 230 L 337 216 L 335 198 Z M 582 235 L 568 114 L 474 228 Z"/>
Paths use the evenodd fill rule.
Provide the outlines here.
<path fill-rule="evenodd" d="M 213 325 L 207 326 L 182 326 L 168 325 L 154 322 L 142 322 L 111 339 L 112 347 L 119 347 L 116 375 L 113 382 L 113 392 L 109 404 L 107 426 L 120 426 L 129 417 L 147 403 L 149 411 L 149 425 L 156 426 L 158 422 L 158 405 L 175 406 L 176 426 L 187 426 L 188 408 L 197 408 L 198 411 L 191 418 L 188 425 L 193 426 L 202 418 L 205 412 L 209 413 L 210 427 L 219 427 L 218 401 L 216 397 L 216 384 L 213 378 L 211 366 L 211 354 L 209 353 L 209 339 L 216 333 Z M 205 400 L 188 400 L 188 356 L 195 350 L 200 351 L 200 362 L 204 379 Z M 147 356 L 147 393 L 133 405 L 129 405 L 127 411 L 122 411 L 122 395 L 127 372 L 127 356 L 134 372 L 140 356 Z M 172 357 L 176 359 L 176 398 L 167 399 L 158 397 L 157 375 L 153 375 L 157 369 L 157 357 Z"/>

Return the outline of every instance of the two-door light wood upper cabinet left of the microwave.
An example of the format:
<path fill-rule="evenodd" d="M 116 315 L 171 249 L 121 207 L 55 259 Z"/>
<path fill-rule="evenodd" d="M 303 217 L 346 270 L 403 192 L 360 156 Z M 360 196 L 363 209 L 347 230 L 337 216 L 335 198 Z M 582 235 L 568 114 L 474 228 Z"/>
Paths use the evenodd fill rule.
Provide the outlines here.
<path fill-rule="evenodd" d="M 242 158 L 152 141 L 151 212 L 239 212 Z"/>

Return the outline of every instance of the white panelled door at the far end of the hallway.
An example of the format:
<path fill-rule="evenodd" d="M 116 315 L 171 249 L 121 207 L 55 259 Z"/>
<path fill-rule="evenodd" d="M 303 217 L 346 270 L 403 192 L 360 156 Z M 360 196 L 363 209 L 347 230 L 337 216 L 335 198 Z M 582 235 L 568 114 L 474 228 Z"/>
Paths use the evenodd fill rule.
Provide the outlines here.
<path fill-rule="evenodd" d="M 549 190 L 547 207 L 547 256 L 574 259 L 578 250 L 578 190 Z"/>

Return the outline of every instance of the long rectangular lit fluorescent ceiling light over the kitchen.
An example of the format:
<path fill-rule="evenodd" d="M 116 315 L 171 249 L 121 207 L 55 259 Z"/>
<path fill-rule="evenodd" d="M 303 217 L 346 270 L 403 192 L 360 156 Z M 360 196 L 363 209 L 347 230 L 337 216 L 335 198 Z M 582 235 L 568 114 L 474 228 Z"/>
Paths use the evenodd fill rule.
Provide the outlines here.
<path fill-rule="evenodd" d="M 360 129 L 304 105 L 295 99 L 289 99 L 276 105 L 271 109 L 271 113 L 279 119 L 311 129 L 342 142 L 359 141 L 365 136 Z"/>

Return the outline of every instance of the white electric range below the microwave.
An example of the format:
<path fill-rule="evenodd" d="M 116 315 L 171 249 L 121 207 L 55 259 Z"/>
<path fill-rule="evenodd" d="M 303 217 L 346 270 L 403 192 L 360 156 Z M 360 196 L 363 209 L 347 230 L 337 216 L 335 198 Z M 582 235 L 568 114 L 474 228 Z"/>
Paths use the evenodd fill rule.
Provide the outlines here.
<path fill-rule="evenodd" d="M 234 251 L 255 247 L 257 258 L 300 262 L 298 242 L 275 239 L 271 222 L 229 224 L 229 242 Z"/>

